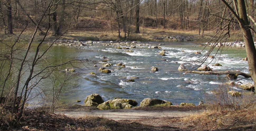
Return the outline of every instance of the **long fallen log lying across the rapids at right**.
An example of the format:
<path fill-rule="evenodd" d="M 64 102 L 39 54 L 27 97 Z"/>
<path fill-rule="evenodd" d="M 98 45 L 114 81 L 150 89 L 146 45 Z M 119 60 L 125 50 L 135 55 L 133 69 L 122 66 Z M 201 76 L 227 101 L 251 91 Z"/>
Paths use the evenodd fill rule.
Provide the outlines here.
<path fill-rule="evenodd" d="M 240 72 L 240 71 L 224 71 L 224 72 L 214 72 L 214 71 L 205 71 L 205 72 L 198 72 L 198 71 L 187 71 L 186 73 L 193 73 L 193 74 L 204 74 L 204 75 L 230 75 L 230 74 L 237 74 L 237 75 L 241 75 L 244 76 L 245 78 L 250 78 L 251 75 L 244 73 L 244 72 Z"/>

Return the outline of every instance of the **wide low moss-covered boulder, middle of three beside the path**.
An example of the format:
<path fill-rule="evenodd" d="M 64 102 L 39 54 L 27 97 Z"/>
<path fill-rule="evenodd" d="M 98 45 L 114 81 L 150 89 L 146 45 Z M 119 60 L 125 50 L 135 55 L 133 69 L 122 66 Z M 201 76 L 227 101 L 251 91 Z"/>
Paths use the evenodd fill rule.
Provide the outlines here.
<path fill-rule="evenodd" d="M 138 105 L 135 100 L 131 99 L 114 99 L 108 100 L 102 104 L 99 104 L 97 107 L 101 110 L 109 110 L 109 109 L 130 109 L 134 106 Z"/>

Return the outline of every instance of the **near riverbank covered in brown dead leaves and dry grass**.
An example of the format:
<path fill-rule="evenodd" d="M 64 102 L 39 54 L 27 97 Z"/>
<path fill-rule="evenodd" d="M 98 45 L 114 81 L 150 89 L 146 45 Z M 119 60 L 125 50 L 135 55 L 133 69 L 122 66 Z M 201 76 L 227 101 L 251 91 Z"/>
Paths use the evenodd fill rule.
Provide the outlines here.
<path fill-rule="evenodd" d="M 1 110 L 8 114 L 7 111 Z M 134 111 L 134 110 L 133 110 Z M 122 113 L 123 110 L 110 110 Z M 130 111 L 129 111 L 130 112 Z M 129 113 L 128 112 L 128 113 Z M 138 111 L 137 111 L 138 112 Z M 140 111 L 145 112 L 145 111 Z M 163 111 L 154 111 L 160 113 Z M 173 113 L 172 110 L 164 112 Z M 256 110 L 249 106 L 240 110 L 206 110 L 192 114 L 187 111 L 172 116 L 156 116 L 113 120 L 98 116 L 69 117 L 40 109 L 25 110 L 20 121 L 1 116 L 2 130 L 255 130 Z M 177 112 L 176 112 L 177 113 Z M 132 112 L 127 114 L 132 116 Z"/>

